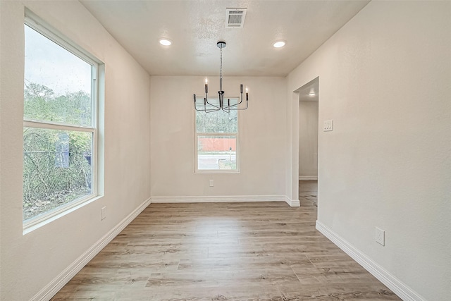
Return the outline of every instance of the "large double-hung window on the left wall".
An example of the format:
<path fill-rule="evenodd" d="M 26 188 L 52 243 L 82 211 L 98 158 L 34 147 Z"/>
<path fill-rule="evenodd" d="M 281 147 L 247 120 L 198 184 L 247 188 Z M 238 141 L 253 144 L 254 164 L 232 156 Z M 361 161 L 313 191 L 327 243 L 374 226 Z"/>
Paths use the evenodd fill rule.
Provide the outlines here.
<path fill-rule="evenodd" d="M 24 227 L 97 195 L 98 63 L 25 18 Z"/>

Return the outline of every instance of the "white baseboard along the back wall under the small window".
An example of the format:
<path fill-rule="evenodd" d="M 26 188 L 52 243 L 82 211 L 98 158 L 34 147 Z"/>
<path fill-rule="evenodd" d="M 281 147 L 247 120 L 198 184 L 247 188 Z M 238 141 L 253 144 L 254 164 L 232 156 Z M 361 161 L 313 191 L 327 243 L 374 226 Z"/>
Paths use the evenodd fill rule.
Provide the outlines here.
<path fill-rule="evenodd" d="M 285 195 L 218 195 L 197 197 L 152 197 L 152 203 L 285 202 Z"/>

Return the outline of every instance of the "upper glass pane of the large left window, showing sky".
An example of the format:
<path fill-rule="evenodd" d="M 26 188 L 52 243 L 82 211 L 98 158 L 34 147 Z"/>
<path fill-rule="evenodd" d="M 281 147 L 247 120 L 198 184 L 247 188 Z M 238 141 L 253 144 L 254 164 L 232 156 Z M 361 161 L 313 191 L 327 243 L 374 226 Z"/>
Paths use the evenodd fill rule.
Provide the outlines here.
<path fill-rule="evenodd" d="M 24 119 L 92 127 L 92 66 L 25 25 Z"/>

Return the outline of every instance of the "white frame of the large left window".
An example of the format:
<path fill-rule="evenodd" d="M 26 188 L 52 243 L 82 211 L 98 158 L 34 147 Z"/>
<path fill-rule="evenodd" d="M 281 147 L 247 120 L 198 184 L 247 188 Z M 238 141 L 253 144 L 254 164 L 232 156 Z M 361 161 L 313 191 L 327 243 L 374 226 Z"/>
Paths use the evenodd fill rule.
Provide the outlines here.
<path fill-rule="evenodd" d="M 47 212 L 34 216 L 30 219 L 23 220 L 23 231 L 24 234 L 28 233 L 35 228 L 39 227 L 42 223 L 47 223 L 47 221 L 53 221 L 60 214 L 66 214 L 70 211 L 77 209 L 78 207 L 87 204 L 88 202 L 94 201 L 99 197 L 99 71 L 101 69 L 101 61 L 89 54 L 87 51 L 79 47 L 75 42 L 71 41 L 65 35 L 61 34 L 54 27 L 46 23 L 44 20 L 39 18 L 35 13 L 32 13 L 29 9 L 25 8 L 25 20 L 24 27 L 28 26 L 32 30 L 35 30 L 40 35 L 43 35 L 47 39 L 57 44 L 59 47 L 66 49 L 74 56 L 77 56 L 82 61 L 85 61 L 91 66 L 91 110 L 92 110 L 92 123 L 90 126 L 87 125 L 70 125 L 68 123 L 58 123 L 54 121 L 35 121 L 26 119 L 23 116 L 23 128 L 42 128 L 47 130 L 65 130 L 65 131 L 76 131 L 76 132 L 87 132 L 92 133 L 92 156 L 91 156 L 91 166 L 92 166 L 92 185 L 91 193 L 68 202 L 59 207 L 51 209 Z"/>

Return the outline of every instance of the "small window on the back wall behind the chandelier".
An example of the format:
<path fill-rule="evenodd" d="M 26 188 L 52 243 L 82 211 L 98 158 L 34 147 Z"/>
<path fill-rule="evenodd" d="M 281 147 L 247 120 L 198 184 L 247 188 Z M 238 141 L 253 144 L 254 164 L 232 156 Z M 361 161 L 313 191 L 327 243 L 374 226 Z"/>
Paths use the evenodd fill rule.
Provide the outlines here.
<path fill-rule="evenodd" d="M 237 97 L 224 97 L 237 101 Z M 209 102 L 218 104 L 218 97 L 209 97 Z M 197 109 L 204 108 L 204 99 L 197 98 Z M 207 107 L 208 109 L 208 107 Z M 205 113 L 195 111 L 195 147 L 197 164 L 195 171 L 215 173 L 237 173 L 238 164 L 238 111 L 230 110 Z"/>

